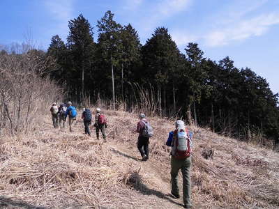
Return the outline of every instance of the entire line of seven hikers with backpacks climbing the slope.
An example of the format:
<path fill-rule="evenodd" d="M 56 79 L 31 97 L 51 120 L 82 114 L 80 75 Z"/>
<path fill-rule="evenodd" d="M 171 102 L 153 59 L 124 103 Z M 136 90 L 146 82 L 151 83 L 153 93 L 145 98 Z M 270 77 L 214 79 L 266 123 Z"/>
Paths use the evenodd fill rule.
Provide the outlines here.
<path fill-rule="evenodd" d="M 77 117 L 77 110 L 72 106 L 72 102 L 67 104 L 56 103 L 52 104 L 50 108 L 52 113 L 52 122 L 54 128 L 64 128 L 66 118 L 68 116 L 68 123 L 70 132 L 73 132 L 73 122 Z M 87 108 L 82 109 L 82 119 L 84 121 L 84 134 L 91 136 L 89 125 L 92 122 L 91 110 Z M 149 138 L 153 137 L 153 128 L 149 121 L 147 121 L 145 114 L 140 114 L 140 121 L 137 123 L 135 132 L 139 133 L 137 138 L 137 148 L 142 156 L 142 161 L 149 160 Z M 103 139 L 106 141 L 105 128 L 107 128 L 107 120 L 105 115 L 101 113 L 100 108 L 96 108 L 95 123 L 96 137 L 99 139 L 99 132 L 103 134 Z M 184 208 L 191 208 L 191 182 L 190 182 L 190 167 L 191 167 L 191 151 L 192 151 L 192 132 L 186 128 L 185 123 L 181 120 L 175 122 L 175 128 L 169 132 L 169 137 L 166 145 L 171 147 L 171 182 L 172 182 L 172 197 L 179 199 L 178 173 L 181 170 L 183 178 L 183 203 Z"/>

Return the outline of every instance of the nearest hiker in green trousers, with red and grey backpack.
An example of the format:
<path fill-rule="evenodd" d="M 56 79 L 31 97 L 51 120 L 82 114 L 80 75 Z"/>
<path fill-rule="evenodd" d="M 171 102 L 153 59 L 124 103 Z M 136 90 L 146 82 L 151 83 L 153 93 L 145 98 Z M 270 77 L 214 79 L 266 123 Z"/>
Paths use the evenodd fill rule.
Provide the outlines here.
<path fill-rule="evenodd" d="M 171 178 L 172 178 L 172 195 L 174 199 L 179 199 L 178 187 L 178 173 L 181 170 L 183 178 L 183 203 L 184 208 L 191 208 L 191 182 L 190 182 L 190 168 L 191 168 L 191 149 L 192 140 L 191 134 L 186 129 L 184 122 L 176 121 L 175 130 L 169 132 L 167 139 L 167 146 L 172 147 L 171 154 Z"/>

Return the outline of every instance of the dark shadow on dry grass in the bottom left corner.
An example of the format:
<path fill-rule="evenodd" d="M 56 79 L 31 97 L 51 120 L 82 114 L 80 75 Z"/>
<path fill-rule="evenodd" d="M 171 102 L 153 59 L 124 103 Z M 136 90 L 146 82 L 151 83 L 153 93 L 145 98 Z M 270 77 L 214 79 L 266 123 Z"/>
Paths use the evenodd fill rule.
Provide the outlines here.
<path fill-rule="evenodd" d="M 15 201 L 6 196 L 0 196 L 0 208 L 17 207 L 25 209 L 46 209 L 45 207 L 32 206 L 24 201 Z"/>

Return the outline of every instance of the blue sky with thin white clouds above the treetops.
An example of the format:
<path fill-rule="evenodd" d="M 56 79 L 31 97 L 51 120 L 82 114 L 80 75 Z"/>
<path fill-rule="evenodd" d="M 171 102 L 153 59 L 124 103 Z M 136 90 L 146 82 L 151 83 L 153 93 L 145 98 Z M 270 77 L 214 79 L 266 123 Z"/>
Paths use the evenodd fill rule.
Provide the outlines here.
<path fill-rule="evenodd" d="M 278 0 L 0 0 L 0 45 L 23 42 L 27 34 L 47 49 L 52 36 L 64 41 L 68 20 L 80 13 L 97 37 L 96 22 L 112 10 L 116 22 L 132 24 L 142 44 L 165 26 L 181 49 L 197 42 L 204 56 L 229 56 L 236 67 L 251 68 L 279 92 Z"/>

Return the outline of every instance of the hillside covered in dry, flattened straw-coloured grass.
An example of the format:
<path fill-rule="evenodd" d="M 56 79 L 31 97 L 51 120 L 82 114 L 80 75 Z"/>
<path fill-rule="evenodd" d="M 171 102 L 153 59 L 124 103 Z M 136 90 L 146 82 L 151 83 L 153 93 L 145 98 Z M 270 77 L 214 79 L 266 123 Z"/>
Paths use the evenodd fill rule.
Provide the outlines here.
<path fill-rule="evenodd" d="M 137 116 L 105 114 L 107 143 L 96 141 L 93 127 L 92 137 L 82 134 L 81 112 L 74 133 L 68 125 L 54 130 L 47 116 L 41 130 L 2 138 L 0 208 L 181 208 L 182 199 L 169 196 L 165 141 L 174 121 L 149 118 L 155 136 L 150 160 L 142 162 L 133 133 Z M 194 132 L 194 208 L 279 208 L 278 153 L 189 128 Z"/>

